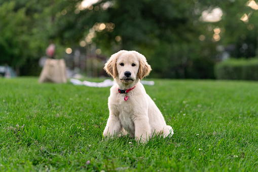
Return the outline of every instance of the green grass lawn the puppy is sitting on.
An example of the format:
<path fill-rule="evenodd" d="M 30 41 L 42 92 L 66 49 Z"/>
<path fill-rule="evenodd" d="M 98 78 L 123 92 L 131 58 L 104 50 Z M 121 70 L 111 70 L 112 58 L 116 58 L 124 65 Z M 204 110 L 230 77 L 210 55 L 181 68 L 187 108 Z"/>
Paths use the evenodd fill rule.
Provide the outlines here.
<path fill-rule="evenodd" d="M 0 78 L 0 88 L 0 171 L 258 170 L 256 82 L 155 80 L 146 92 L 174 135 L 147 144 L 102 142 L 109 87 Z"/>

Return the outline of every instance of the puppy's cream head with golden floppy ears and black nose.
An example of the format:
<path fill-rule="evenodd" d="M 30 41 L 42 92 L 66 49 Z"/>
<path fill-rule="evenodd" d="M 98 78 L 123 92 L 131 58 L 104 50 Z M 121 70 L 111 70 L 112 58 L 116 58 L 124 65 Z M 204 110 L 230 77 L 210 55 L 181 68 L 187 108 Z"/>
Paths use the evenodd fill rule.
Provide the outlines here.
<path fill-rule="evenodd" d="M 109 58 L 104 70 L 117 82 L 131 84 L 148 76 L 152 69 L 142 54 L 136 51 L 122 50 Z"/>

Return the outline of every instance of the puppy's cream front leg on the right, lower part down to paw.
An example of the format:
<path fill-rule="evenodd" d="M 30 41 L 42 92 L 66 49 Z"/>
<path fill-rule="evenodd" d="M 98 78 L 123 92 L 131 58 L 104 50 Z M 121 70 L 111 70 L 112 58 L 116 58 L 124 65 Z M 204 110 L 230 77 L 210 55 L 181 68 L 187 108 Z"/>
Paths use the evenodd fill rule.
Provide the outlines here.
<path fill-rule="evenodd" d="M 135 140 L 146 143 L 151 136 L 151 126 L 148 116 L 140 116 L 134 118 Z"/>

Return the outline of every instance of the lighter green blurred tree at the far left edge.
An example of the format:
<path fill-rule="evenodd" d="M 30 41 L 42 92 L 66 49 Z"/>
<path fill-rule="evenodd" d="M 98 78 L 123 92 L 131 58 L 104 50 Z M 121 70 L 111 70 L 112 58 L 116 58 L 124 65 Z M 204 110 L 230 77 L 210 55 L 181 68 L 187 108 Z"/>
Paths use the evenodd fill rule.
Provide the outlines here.
<path fill-rule="evenodd" d="M 38 68 L 33 59 L 39 59 L 45 51 L 47 38 L 41 27 L 43 21 L 37 19 L 38 11 L 33 11 L 36 5 L 30 8 L 26 1 L 17 2 L 0 2 L 0 64 L 11 65 L 19 74 L 20 67 L 29 61 L 33 61 L 30 68 Z"/>

